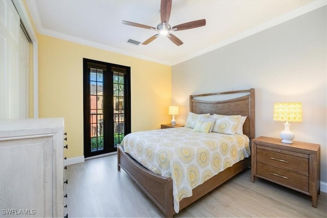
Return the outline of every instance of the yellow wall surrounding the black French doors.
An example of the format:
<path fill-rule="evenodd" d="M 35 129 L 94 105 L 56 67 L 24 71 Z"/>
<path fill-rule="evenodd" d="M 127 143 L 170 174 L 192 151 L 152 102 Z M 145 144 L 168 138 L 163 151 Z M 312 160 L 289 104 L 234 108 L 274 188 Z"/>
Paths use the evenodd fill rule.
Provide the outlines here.
<path fill-rule="evenodd" d="M 67 158 L 83 156 L 83 58 L 131 67 L 132 132 L 169 123 L 171 66 L 38 34 L 39 117 L 64 117 Z"/>

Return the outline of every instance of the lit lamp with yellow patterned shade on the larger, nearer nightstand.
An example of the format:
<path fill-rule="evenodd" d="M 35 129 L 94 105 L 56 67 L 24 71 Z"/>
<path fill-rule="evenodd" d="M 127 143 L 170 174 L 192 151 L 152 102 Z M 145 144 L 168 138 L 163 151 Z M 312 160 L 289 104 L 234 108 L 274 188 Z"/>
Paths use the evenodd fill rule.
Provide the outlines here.
<path fill-rule="evenodd" d="M 281 132 L 282 142 L 292 144 L 294 133 L 290 131 L 291 125 L 288 122 L 302 122 L 302 103 L 275 103 L 273 120 L 286 122 L 285 129 Z"/>

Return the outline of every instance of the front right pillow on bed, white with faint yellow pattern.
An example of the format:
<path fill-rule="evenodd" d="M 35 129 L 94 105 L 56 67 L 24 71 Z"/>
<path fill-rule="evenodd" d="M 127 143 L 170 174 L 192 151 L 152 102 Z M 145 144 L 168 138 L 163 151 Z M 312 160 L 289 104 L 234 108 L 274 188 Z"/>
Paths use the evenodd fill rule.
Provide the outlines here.
<path fill-rule="evenodd" d="M 216 123 L 213 132 L 235 135 L 237 125 L 241 119 L 241 115 L 219 115 L 214 114 Z"/>

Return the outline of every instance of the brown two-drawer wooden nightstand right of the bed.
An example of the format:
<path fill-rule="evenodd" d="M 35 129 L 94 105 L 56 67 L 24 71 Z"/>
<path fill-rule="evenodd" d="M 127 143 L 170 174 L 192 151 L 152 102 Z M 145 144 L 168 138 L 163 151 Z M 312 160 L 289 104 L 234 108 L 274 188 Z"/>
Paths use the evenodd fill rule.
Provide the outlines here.
<path fill-rule="evenodd" d="M 251 142 L 251 182 L 255 177 L 312 196 L 317 207 L 320 193 L 320 145 L 279 138 L 259 137 Z"/>

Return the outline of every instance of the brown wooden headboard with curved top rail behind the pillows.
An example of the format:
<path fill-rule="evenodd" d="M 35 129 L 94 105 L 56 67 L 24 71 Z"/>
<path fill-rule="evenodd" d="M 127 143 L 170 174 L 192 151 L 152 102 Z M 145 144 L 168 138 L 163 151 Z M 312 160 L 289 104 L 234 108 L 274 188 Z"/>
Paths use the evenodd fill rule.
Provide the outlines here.
<path fill-rule="evenodd" d="M 254 88 L 239 91 L 190 95 L 190 111 L 197 114 L 247 116 L 243 133 L 255 138 Z"/>

